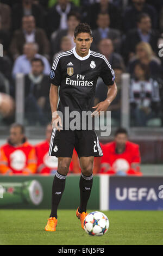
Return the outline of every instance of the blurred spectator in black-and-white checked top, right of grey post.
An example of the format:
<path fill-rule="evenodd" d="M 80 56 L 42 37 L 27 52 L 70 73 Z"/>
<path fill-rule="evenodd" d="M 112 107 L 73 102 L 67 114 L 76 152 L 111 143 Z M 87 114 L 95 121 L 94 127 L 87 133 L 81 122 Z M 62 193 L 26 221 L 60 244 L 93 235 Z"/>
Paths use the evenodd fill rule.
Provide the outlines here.
<path fill-rule="evenodd" d="M 158 117 L 160 109 L 159 84 L 149 76 L 148 66 L 137 63 L 130 84 L 131 117 L 134 126 L 146 126 Z"/>

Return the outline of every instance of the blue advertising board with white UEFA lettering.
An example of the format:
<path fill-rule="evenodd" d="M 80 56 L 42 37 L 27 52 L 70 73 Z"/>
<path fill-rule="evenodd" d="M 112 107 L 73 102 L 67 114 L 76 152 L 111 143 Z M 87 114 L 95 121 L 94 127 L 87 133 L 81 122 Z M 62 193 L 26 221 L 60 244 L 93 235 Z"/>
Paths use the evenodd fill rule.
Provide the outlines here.
<path fill-rule="evenodd" d="M 110 176 L 109 210 L 163 210 L 163 176 Z"/>

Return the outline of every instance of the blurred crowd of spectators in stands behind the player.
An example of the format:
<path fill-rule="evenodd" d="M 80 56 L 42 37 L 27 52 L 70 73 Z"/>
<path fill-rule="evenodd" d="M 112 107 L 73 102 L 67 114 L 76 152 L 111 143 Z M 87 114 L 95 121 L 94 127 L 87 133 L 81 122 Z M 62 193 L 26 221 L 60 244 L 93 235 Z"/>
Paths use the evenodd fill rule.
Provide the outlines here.
<path fill-rule="evenodd" d="M 51 121 L 48 74 L 58 53 L 74 47 L 74 28 L 92 28 L 92 51 L 115 70 L 118 95 L 108 110 L 121 120 L 121 77 L 130 80 L 130 125 L 163 126 L 163 4 L 161 0 L 2 0 L 0 123 L 15 121 L 16 75 L 24 74 L 26 125 Z M 162 44 L 162 46 L 161 46 Z M 160 48 L 159 48 L 160 47 Z M 162 50 L 161 50 L 162 48 Z M 96 103 L 107 88 L 98 80 Z"/>

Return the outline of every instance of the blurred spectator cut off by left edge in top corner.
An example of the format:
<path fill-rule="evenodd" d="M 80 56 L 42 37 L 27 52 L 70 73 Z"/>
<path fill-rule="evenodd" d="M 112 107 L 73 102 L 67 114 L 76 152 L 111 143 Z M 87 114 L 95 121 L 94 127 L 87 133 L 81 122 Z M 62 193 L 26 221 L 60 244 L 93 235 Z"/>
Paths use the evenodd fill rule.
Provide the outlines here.
<path fill-rule="evenodd" d="M 0 18 L 3 30 L 9 31 L 11 27 L 11 9 L 9 5 L 0 3 Z"/>

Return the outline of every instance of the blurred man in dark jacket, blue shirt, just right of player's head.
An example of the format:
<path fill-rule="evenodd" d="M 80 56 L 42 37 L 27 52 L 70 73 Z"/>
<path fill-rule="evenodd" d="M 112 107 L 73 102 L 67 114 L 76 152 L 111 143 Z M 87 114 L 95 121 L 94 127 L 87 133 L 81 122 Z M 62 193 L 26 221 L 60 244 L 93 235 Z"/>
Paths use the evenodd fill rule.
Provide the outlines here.
<path fill-rule="evenodd" d="M 107 13 L 99 13 L 97 17 L 97 29 L 92 31 L 93 42 L 91 50 L 97 51 L 99 41 L 105 38 L 112 40 L 115 51 L 120 52 L 121 33 L 117 29 L 110 28 L 110 17 Z"/>

